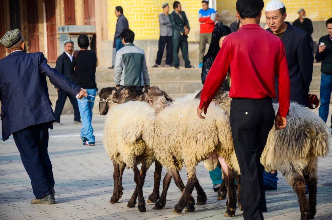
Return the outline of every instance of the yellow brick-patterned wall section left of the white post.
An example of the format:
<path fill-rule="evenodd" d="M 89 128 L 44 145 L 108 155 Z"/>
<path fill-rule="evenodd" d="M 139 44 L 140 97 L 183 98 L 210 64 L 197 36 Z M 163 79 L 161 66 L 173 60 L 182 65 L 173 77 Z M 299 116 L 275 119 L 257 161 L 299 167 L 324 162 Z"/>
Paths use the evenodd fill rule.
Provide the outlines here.
<path fill-rule="evenodd" d="M 135 33 L 135 40 L 159 39 L 158 15 L 162 13 L 161 5 L 168 2 L 170 13 L 173 2 L 169 0 L 107 0 L 108 40 L 113 40 L 117 18 L 115 7 L 121 5 L 124 16 L 128 19 L 129 28 Z M 198 11 L 202 8 L 201 1 L 180 0 L 182 10 L 186 12 L 190 25 L 189 41 L 199 41 L 200 25 Z"/>

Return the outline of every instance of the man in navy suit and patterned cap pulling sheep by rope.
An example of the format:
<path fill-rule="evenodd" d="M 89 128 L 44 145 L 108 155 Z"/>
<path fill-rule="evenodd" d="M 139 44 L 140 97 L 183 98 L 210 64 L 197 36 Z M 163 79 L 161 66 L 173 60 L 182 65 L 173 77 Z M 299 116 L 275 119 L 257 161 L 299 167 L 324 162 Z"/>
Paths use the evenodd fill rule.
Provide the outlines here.
<path fill-rule="evenodd" d="M 53 204 L 54 178 L 48 157 L 48 129 L 55 120 L 46 76 L 52 84 L 81 99 L 86 91 L 47 65 L 42 53 L 24 53 L 20 30 L 6 32 L 0 43 L 9 55 L 0 60 L 2 140 L 13 134 L 36 199 Z"/>

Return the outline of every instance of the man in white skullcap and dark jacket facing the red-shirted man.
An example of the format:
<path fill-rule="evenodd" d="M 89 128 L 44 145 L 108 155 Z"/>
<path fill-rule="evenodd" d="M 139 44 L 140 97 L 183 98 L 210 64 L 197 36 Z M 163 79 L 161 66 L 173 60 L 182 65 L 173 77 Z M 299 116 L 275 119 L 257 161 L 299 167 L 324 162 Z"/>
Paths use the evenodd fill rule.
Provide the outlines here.
<path fill-rule="evenodd" d="M 277 6 L 277 7 L 276 7 Z M 281 38 L 285 44 L 285 52 L 290 76 L 290 101 L 307 106 L 307 95 L 312 79 L 313 55 L 310 37 L 303 30 L 285 22 L 287 13 L 285 5 L 280 1 L 271 1 L 265 8 L 267 31 Z M 277 81 L 276 81 L 277 82 Z M 276 89 L 278 84 L 276 83 Z M 278 93 L 277 93 L 278 94 Z M 274 102 L 278 101 L 278 96 Z M 277 171 L 264 173 L 266 190 L 277 189 Z"/>

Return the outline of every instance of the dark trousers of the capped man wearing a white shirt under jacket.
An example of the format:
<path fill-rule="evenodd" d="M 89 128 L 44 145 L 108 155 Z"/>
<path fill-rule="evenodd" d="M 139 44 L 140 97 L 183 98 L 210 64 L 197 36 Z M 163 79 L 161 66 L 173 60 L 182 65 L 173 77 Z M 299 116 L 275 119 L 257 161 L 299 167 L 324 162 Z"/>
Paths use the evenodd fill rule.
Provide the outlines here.
<path fill-rule="evenodd" d="M 59 89 L 58 99 L 56 100 L 56 103 L 55 103 L 55 110 L 54 110 L 55 121 L 60 122 L 60 115 L 62 113 L 63 106 L 66 102 L 67 97 L 69 98 L 70 103 L 73 105 L 73 108 L 74 108 L 74 121 L 81 121 L 80 111 L 78 109 L 78 103 L 77 103 L 76 98 L 69 95 L 62 89 Z"/>

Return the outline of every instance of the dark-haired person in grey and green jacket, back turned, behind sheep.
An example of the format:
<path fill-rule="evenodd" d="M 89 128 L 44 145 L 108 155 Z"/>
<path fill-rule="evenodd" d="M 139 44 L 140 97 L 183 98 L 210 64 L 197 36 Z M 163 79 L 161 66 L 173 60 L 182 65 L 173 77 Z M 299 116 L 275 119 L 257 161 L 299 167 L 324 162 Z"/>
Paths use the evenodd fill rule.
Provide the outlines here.
<path fill-rule="evenodd" d="M 115 57 L 114 82 L 117 89 L 123 86 L 135 85 L 143 88 L 150 86 L 149 73 L 146 67 L 144 51 L 133 42 L 135 34 L 130 29 L 121 32 L 124 45 Z"/>

